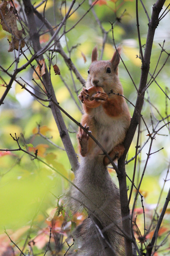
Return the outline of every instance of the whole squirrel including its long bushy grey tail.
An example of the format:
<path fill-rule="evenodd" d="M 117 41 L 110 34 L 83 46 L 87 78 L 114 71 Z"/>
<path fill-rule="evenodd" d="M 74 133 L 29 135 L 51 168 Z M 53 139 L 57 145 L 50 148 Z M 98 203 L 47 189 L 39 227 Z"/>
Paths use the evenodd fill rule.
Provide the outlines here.
<path fill-rule="evenodd" d="M 85 88 L 78 98 L 83 103 L 81 124 L 98 140 L 115 160 L 125 150 L 123 141 L 131 116 L 118 77 L 121 48 L 111 60 L 98 61 L 98 50 L 92 50 L 92 64 Z M 68 255 L 117 256 L 123 253 L 123 237 L 119 189 L 107 170 L 107 156 L 81 128 L 78 134 L 80 165 L 71 187 L 70 206 L 73 211 L 88 210 L 89 217 L 74 231 L 74 250 Z M 83 192 L 83 193 L 82 193 Z"/>

